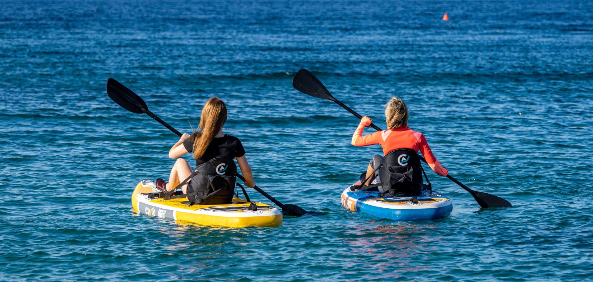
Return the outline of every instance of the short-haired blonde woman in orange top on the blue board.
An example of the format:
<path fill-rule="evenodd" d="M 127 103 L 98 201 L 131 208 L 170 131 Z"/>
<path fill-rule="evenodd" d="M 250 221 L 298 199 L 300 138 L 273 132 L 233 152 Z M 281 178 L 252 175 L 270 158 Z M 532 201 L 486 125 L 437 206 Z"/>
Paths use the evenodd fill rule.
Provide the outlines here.
<path fill-rule="evenodd" d="M 373 134 L 362 136 L 365 127 L 369 127 L 372 120 L 368 116 L 363 116 L 361 123 L 352 135 L 352 145 L 368 146 L 379 144 L 383 148 L 383 154 L 387 155 L 397 149 L 410 149 L 414 152 L 420 150 L 420 153 L 426 159 L 426 163 L 440 176 L 447 176 L 448 171 L 441 166 L 435 156 L 432 154 L 431 147 L 422 133 L 413 131 L 407 126 L 408 110 L 406 103 L 400 98 L 391 98 L 385 105 L 385 118 L 387 121 L 387 130 L 374 132 Z M 381 155 L 375 155 L 368 168 L 366 169 L 365 185 L 372 181 L 372 174 L 381 163 Z"/>

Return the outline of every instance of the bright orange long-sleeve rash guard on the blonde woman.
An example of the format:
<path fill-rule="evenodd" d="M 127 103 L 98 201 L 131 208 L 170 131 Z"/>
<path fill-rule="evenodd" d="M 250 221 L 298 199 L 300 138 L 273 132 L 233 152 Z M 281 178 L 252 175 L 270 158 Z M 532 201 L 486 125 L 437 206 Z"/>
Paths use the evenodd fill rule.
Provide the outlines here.
<path fill-rule="evenodd" d="M 420 150 L 428 166 L 440 176 L 447 176 L 449 171 L 441 166 L 435 156 L 432 154 L 431 147 L 428 147 L 426 138 L 420 132 L 413 131 L 409 127 L 399 127 L 396 129 L 389 129 L 377 131 L 373 134 L 362 136 L 362 131 L 365 129 L 365 124 L 361 121 L 358 125 L 354 135 L 352 135 L 352 145 L 362 147 L 368 145 L 379 144 L 383 148 L 383 154 L 401 148 L 408 148 L 414 151 Z"/>

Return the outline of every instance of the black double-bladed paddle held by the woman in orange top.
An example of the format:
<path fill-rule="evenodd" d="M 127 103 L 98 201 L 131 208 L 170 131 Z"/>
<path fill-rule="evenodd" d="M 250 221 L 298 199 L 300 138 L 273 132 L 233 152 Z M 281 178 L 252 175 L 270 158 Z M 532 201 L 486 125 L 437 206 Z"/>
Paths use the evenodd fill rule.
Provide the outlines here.
<path fill-rule="evenodd" d="M 331 96 L 331 93 L 326 89 L 325 86 L 323 86 L 323 83 L 321 83 L 317 79 L 317 77 L 315 77 L 313 73 L 309 72 L 308 70 L 299 70 L 292 79 L 292 86 L 300 92 L 305 93 L 309 96 L 333 101 L 338 105 L 342 106 L 342 108 L 346 109 L 346 111 L 349 111 L 351 114 L 355 115 L 357 118 L 362 119 L 362 116 L 359 115 L 357 112 L 348 108 L 342 102 L 334 98 L 334 96 Z M 377 131 L 381 131 L 381 128 L 377 127 L 377 125 L 371 124 L 371 127 Z M 422 157 L 422 155 L 420 155 L 420 160 L 426 163 L 426 160 Z M 476 199 L 476 202 L 478 202 L 482 208 L 499 208 L 512 206 L 511 203 L 509 203 L 505 199 L 502 199 L 501 197 L 469 189 L 463 183 L 457 181 L 457 179 L 454 179 L 450 174 L 447 175 L 447 178 L 457 183 L 457 185 L 461 186 L 461 188 L 466 189 L 467 192 L 470 192 L 471 196 L 474 196 L 474 199 Z"/>

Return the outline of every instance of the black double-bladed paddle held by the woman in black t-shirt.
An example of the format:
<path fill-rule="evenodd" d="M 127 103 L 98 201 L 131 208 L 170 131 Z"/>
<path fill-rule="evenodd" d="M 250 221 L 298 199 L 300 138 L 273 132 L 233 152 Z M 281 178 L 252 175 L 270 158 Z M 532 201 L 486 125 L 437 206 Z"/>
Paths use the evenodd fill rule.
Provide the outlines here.
<path fill-rule="evenodd" d="M 133 112 L 135 114 L 146 114 L 152 119 L 160 122 L 160 124 L 164 125 L 170 131 L 173 131 L 174 134 L 177 134 L 179 137 L 181 137 L 181 132 L 171 127 L 171 125 L 168 125 L 167 122 L 162 121 L 162 119 L 160 119 L 157 115 L 152 114 L 151 111 L 148 111 L 148 106 L 146 106 L 144 100 L 142 100 L 142 98 L 140 98 L 140 96 L 138 96 L 132 90 L 128 89 L 126 86 L 123 86 L 122 83 L 117 82 L 117 80 L 112 78 L 107 80 L 107 95 L 109 95 L 109 98 L 116 102 L 117 105 L 122 106 L 122 108 L 127 109 L 127 111 Z M 245 181 L 241 174 L 237 173 L 237 177 Z M 283 203 L 280 203 L 279 200 L 276 200 L 274 197 L 270 196 L 268 193 L 264 192 L 257 186 L 254 186 L 253 189 L 278 205 L 282 209 L 283 215 L 301 216 L 307 213 L 306 210 L 301 209 L 297 205 L 284 205 Z"/>

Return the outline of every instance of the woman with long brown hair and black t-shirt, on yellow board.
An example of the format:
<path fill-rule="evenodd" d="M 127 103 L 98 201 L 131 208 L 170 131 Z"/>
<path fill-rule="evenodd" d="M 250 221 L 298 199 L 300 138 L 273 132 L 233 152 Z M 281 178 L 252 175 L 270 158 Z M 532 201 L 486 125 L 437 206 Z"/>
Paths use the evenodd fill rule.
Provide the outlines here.
<path fill-rule="evenodd" d="M 225 103 L 216 97 L 208 99 L 202 109 L 199 131 L 193 132 L 192 135 L 183 134 L 179 141 L 171 147 L 169 157 L 177 158 L 177 160 L 171 169 L 169 181 L 165 182 L 162 179 L 157 179 L 157 187 L 161 190 L 171 190 L 192 174 L 189 163 L 181 158 L 182 155 L 190 152 L 193 152 L 196 166 L 221 156 L 231 159 L 237 158 L 241 173 L 246 179 L 244 184 L 248 187 L 255 186 L 253 173 L 251 173 L 251 167 L 247 163 L 245 149 L 241 141 L 239 141 L 239 138 L 227 135 L 222 131 L 226 121 L 227 106 Z M 187 193 L 188 184 L 189 182 L 181 186 L 184 194 Z"/>

